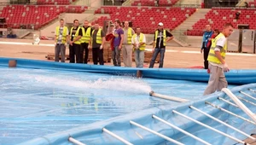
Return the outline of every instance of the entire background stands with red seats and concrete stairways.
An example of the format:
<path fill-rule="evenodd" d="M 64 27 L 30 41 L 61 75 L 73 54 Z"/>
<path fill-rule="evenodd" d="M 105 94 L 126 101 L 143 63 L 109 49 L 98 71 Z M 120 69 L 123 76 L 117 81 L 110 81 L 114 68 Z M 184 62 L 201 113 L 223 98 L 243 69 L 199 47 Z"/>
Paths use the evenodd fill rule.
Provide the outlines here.
<path fill-rule="evenodd" d="M 108 20 L 129 20 L 145 34 L 153 34 L 159 22 L 177 38 L 177 44 L 202 36 L 206 24 L 222 29 L 225 22 L 235 28 L 247 24 L 256 29 L 256 0 L 0 0 L 0 37 L 33 34 L 54 37 L 59 19 L 67 26 L 78 19 L 101 26 Z M 238 16 L 237 16 L 238 14 Z M 201 40 L 200 40 L 201 41 Z"/>

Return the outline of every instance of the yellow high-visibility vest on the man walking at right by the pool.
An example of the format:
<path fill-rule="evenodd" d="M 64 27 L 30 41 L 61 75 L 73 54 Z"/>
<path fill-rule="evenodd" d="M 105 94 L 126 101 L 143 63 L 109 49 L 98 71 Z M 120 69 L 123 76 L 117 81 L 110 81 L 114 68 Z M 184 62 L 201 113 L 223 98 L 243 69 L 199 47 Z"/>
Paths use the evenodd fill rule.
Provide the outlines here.
<path fill-rule="evenodd" d="M 208 59 L 207 59 L 210 62 L 221 64 L 221 61 L 219 61 L 218 58 L 216 57 L 215 50 L 214 50 L 216 48 L 218 38 L 221 38 L 221 37 L 224 37 L 223 33 L 219 33 L 216 38 L 212 39 L 212 46 L 209 51 L 209 55 L 208 55 Z M 226 51 L 227 51 L 227 42 L 224 44 L 223 49 L 220 49 L 220 55 L 223 59 L 225 59 Z"/>

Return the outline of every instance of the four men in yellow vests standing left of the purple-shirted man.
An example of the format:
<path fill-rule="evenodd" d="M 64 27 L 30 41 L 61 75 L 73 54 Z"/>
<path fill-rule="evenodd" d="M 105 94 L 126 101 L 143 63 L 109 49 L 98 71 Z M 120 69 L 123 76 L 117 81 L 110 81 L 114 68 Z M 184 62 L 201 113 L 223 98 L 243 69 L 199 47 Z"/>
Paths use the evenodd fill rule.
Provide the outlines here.
<path fill-rule="evenodd" d="M 84 25 L 79 26 L 79 20 L 73 20 L 73 27 L 70 32 L 64 26 L 64 20 L 60 20 L 60 26 L 55 28 L 55 61 L 65 62 L 66 46 L 69 45 L 70 63 L 88 62 L 89 49 L 92 49 L 93 63 L 103 65 L 103 46 L 105 43 L 105 33 L 99 24 L 95 24 L 94 29 L 89 26 L 89 21 L 84 20 Z"/>

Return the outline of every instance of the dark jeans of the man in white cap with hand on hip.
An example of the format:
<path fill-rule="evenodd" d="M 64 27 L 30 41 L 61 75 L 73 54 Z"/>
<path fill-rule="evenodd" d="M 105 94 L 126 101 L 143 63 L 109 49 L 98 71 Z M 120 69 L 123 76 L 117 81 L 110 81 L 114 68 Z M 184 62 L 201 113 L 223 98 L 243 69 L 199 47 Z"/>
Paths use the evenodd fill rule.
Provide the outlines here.
<path fill-rule="evenodd" d="M 153 68 L 153 67 L 154 67 L 155 59 L 156 59 L 156 57 L 157 57 L 157 55 L 158 55 L 159 53 L 160 53 L 159 67 L 162 68 L 162 67 L 164 66 L 165 52 L 166 52 L 166 49 L 165 49 L 165 48 L 155 48 L 155 49 L 154 49 L 154 54 L 153 54 L 152 59 L 151 59 L 151 61 L 150 61 L 149 68 Z"/>

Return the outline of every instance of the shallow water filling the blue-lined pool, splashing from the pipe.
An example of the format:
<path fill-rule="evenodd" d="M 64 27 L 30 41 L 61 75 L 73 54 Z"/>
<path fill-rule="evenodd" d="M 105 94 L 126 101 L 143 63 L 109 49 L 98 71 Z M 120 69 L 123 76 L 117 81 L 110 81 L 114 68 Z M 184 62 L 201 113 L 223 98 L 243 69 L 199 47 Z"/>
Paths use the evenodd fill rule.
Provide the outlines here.
<path fill-rule="evenodd" d="M 171 102 L 199 100 L 207 84 L 101 73 L 0 67 L 0 144 L 17 144 Z"/>

